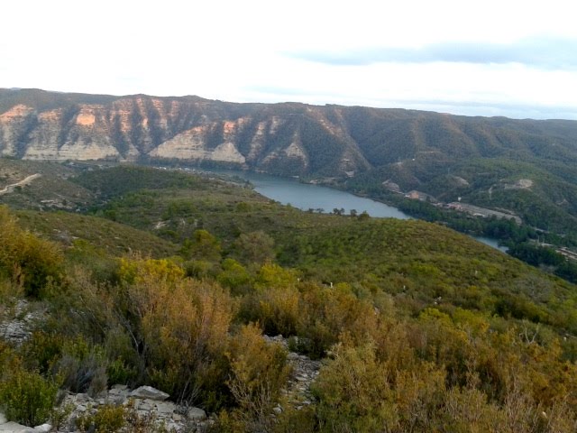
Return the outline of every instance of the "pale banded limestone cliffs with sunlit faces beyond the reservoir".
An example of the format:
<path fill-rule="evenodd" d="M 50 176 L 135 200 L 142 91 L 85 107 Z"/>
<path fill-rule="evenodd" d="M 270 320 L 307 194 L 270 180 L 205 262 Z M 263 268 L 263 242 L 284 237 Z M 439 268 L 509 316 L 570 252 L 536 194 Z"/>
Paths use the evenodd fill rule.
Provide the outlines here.
<path fill-rule="evenodd" d="M 318 171 L 311 156 L 321 152 L 310 149 L 307 135 L 315 134 L 315 140 L 326 145 L 347 141 L 343 128 L 331 124 L 320 110 L 199 97 L 96 97 L 0 89 L 0 154 L 57 161 L 215 161 L 305 174 Z M 342 149 L 327 157 L 338 170 L 368 167 L 358 150 L 337 147 Z"/>

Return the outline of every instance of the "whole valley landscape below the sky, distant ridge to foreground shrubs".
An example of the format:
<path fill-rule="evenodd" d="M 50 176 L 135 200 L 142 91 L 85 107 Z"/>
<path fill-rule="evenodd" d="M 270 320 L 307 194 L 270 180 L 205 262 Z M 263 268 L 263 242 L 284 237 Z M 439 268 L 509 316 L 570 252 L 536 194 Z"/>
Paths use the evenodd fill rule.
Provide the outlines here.
<path fill-rule="evenodd" d="M 572 432 L 575 131 L 2 89 L 0 410 L 57 431 Z M 289 177 L 255 185 L 293 198 L 196 169 Z M 390 206 L 300 210 L 311 189 Z"/>

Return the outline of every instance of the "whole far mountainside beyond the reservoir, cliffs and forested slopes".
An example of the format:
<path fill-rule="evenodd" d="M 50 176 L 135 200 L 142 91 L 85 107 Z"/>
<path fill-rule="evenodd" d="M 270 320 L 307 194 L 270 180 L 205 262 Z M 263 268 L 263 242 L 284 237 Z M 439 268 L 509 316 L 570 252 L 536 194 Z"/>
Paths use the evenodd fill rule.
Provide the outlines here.
<path fill-rule="evenodd" d="M 0 154 L 227 164 L 372 196 L 389 181 L 521 217 L 537 200 L 555 221 L 577 221 L 577 122 L 568 120 L 0 89 Z"/>

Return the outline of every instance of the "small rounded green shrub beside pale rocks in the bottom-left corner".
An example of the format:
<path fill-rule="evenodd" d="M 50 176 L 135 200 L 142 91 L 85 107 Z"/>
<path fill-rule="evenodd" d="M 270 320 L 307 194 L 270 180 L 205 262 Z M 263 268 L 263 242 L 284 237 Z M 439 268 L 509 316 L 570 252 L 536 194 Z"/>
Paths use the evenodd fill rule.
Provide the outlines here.
<path fill-rule="evenodd" d="M 19 369 L 0 383 L 0 404 L 7 419 L 37 426 L 50 419 L 58 388 L 39 373 Z"/>

